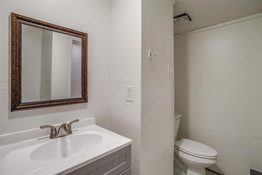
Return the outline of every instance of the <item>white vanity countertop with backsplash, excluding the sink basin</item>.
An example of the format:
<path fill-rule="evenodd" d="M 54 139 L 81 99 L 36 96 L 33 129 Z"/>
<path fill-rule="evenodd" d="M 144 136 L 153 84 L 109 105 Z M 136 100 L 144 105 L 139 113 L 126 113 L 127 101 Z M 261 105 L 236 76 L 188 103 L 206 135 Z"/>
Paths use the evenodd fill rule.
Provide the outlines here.
<path fill-rule="evenodd" d="M 85 125 L 85 127 L 81 127 L 81 125 L 78 124 L 75 125 L 76 127 L 78 126 L 78 128 L 76 128 L 74 127 L 74 124 L 72 124 L 73 134 L 63 137 L 69 138 L 70 136 L 80 134 L 98 134 L 103 137 L 101 143 L 91 149 L 85 150 L 84 152 L 77 153 L 76 155 L 73 155 L 71 157 L 61 158 L 57 160 L 35 161 L 30 158 L 30 155 L 35 149 L 39 148 L 40 146 L 54 141 L 55 139 L 61 139 L 62 137 L 49 139 L 49 135 L 44 135 L 42 137 L 21 141 L 21 134 L 26 137 L 29 136 L 30 133 L 32 133 L 33 131 L 35 133 L 39 133 L 43 129 L 33 129 L 30 131 L 0 136 L 0 174 L 63 175 L 79 169 L 80 167 L 83 167 L 131 144 L 132 140 L 95 125 L 94 118 L 86 120 L 88 120 L 88 122 L 82 122 L 82 125 L 83 123 L 88 123 L 88 126 Z M 50 129 L 46 130 L 50 132 Z M 47 132 L 45 131 L 45 133 Z M 9 139 L 12 139 L 12 141 L 10 141 Z M 18 142 L 13 143 L 13 140 L 16 140 Z M 79 143 L 77 144 L 83 143 L 84 142 L 79 141 Z"/>

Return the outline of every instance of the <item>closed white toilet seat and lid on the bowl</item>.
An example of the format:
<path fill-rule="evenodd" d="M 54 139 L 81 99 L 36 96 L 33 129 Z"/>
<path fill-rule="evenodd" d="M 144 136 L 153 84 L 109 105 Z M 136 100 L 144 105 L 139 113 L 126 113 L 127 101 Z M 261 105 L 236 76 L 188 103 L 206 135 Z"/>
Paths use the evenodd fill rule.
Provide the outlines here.
<path fill-rule="evenodd" d="M 175 143 L 175 148 L 196 157 L 206 159 L 215 159 L 218 157 L 218 152 L 210 146 L 189 139 L 181 139 Z"/>

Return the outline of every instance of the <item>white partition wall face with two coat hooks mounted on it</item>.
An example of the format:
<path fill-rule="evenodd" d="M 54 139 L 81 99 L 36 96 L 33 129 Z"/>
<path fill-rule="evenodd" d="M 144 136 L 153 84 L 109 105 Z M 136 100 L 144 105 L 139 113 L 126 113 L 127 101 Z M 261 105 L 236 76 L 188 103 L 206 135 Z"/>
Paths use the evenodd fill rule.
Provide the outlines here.
<path fill-rule="evenodd" d="M 152 50 L 155 58 L 148 57 Z M 141 174 L 173 174 L 173 1 L 142 1 Z"/>

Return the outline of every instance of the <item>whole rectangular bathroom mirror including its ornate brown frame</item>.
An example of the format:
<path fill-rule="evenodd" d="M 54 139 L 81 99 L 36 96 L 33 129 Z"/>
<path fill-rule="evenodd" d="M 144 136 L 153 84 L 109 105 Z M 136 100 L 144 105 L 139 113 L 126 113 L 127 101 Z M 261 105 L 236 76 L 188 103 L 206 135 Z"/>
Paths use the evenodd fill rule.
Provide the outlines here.
<path fill-rule="evenodd" d="M 11 111 L 86 103 L 88 35 L 11 18 Z"/>

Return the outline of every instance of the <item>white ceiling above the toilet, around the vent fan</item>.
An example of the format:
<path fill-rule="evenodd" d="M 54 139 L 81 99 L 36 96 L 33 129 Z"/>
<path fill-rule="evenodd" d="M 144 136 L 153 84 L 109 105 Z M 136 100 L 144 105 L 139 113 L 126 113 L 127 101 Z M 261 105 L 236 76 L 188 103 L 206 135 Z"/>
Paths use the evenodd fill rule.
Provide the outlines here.
<path fill-rule="evenodd" d="M 174 35 L 261 12 L 262 0 L 176 0 L 174 16 L 187 12 L 192 21 L 177 25 Z"/>

